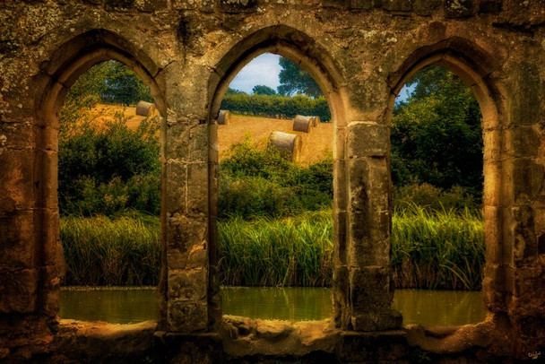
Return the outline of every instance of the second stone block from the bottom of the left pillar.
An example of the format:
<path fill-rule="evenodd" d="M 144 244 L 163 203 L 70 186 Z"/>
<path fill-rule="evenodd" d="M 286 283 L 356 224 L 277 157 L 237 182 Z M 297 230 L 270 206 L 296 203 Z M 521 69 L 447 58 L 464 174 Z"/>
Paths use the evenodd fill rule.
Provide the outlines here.
<path fill-rule="evenodd" d="M 169 269 L 169 301 L 205 300 L 208 291 L 208 269 Z"/>

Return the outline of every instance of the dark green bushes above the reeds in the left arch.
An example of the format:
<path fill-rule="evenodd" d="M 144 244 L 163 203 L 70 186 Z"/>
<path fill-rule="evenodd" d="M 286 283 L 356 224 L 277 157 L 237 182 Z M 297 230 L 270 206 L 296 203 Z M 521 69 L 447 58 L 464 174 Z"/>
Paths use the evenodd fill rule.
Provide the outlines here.
<path fill-rule="evenodd" d="M 118 115 L 102 128 L 82 122 L 59 134 L 62 214 L 159 213 L 158 120 L 144 119 L 134 131 L 125 121 Z"/>

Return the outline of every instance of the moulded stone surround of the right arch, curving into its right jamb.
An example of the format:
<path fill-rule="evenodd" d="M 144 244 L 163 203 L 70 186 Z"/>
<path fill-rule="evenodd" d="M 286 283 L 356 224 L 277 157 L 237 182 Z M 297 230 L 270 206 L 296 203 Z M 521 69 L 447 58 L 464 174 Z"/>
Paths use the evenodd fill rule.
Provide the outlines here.
<path fill-rule="evenodd" d="M 506 255 L 510 251 L 508 238 L 504 234 L 501 207 L 509 196 L 502 187 L 506 179 L 503 172 L 504 128 L 508 124 L 505 88 L 494 79 L 498 65 L 495 58 L 468 39 L 454 37 L 422 47 L 406 58 L 401 67 L 389 77 L 391 94 L 388 102 L 386 122 L 391 124 L 395 98 L 402 86 L 414 74 L 428 65 L 440 65 L 456 74 L 470 86 L 479 102 L 483 117 L 483 211 L 485 220 L 486 267 L 483 293 L 489 312 L 504 311 L 506 304 L 502 293 L 505 290 L 506 273 L 503 264 L 508 264 Z M 490 318 L 490 317 L 489 317 Z"/>

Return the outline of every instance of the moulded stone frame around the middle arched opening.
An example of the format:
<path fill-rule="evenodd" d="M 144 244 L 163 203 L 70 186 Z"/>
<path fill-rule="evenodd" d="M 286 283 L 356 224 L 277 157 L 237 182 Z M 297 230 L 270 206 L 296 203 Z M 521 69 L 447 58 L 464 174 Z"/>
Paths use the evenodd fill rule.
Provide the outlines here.
<path fill-rule="evenodd" d="M 223 99 L 224 94 L 226 91 L 228 91 L 230 82 L 235 78 L 235 76 L 238 74 L 238 72 L 247 65 L 248 62 L 250 62 L 252 59 L 254 59 L 256 56 L 260 56 L 266 53 L 275 54 L 281 57 L 284 57 L 285 59 L 289 60 L 291 64 L 297 65 L 301 69 L 305 70 L 316 82 L 319 89 L 323 91 L 324 99 L 327 102 L 327 108 L 330 110 L 331 118 L 325 119 L 324 121 L 327 121 L 328 123 L 324 123 L 324 128 L 332 129 L 331 134 L 329 134 L 329 140 L 327 140 L 326 143 L 329 143 L 329 145 L 333 146 L 331 147 L 331 155 L 333 159 L 333 261 L 331 264 L 333 265 L 333 271 L 337 269 L 337 267 L 340 265 L 339 262 L 344 259 L 344 250 L 339 253 L 339 246 L 344 246 L 344 234 L 342 231 L 344 231 L 345 226 L 344 223 L 340 224 L 338 223 L 338 215 L 342 214 L 346 207 L 345 207 L 345 199 L 342 198 L 344 195 L 342 192 L 342 187 L 340 184 L 340 180 L 343 179 L 344 174 L 346 173 L 346 170 L 344 169 L 344 148 L 343 144 L 345 143 L 345 134 L 346 134 L 346 128 L 345 128 L 345 116 L 344 116 L 344 105 L 342 103 L 342 97 L 343 97 L 343 85 L 342 82 L 339 82 L 341 77 L 339 74 L 333 72 L 326 71 L 327 69 L 332 70 L 334 69 L 333 65 L 329 62 L 329 58 L 326 55 L 322 55 L 321 58 L 316 58 L 316 49 L 308 49 L 307 47 L 302 47 L 305 49 L 305 51 L 302 51 L 301 48 L 299 48 L 298 41 L 301 41 L 300 39 L 293 41 L 293 39 L 290 39 L 290 37 L 293 36 L 293 34 L 284 34 L 286 31 L 292 32 L 295 30 L 290 29 L 283 29 L 282 27 L 271 27 L 271 29 L 265 29 L 257 32 L 257 35 L 255 36 L 255 39 L 252 39 L 256 42 L 256 44 L 252 45 L 252 40 L 248 41 L 249 44 L 241 45 L 240 48 L 233 48 L 227 56 L 225 56 L 222 61 L 221 65 L 217 67 L 217 70 L 223 70 L 221 72 L 221 77 L 219 80 L 212 82 L 212 105 L 211 105 L 211 114 L 210 114 L 210 123 L 211 123 L 211 129 L 210 129 L 210 161 L 211 161 L 211 169 L 209 171 L 210 175 L 210 194 L 211 194 L 211 204 L 210 204 L 210 213 L 211 213 L 211 224 L 210 224 L 210 249 L 211 249 L 211 258 L 210 258 L 210 264 L 211 264 L 211 291 L 209 293 L 212 293 L 209 297 L 209 308 L 212 308 L 212 312 L 216 312 L 215 315 L 219 317 L 221 315 L 221 305 L 219 304 L 219 293 L 220 293 L 220 281 L 218 277 L 220 276 L 218 270 L 220 265 L 219 260 L 221 259 L 220 256 L 218 256 L 218 246 L 221 244 L 219 242 L 218 238 L 218 225 L 221 223 L 218 220 L 219 211 L 218 211 L 218 193 L 219 193 L 219 182 L 217 179 L 218 176 L 218 129 L 221 128 L 221 126 L 218 126 L 216 124 L 216 118 L 218 117 L 218 114 L 221 109 L 221 100 Z M 260 39 L 265 34 L 264 39 Z M 304 35 L 303 35 L 304 37 Z M 241 42 L 245 43 L 245 41 Z M 333 68 L 329 68 L 333 67 Z M 280 115 L 279 115 L 280 117 Z M 284 116 L 282 116 L 284 117 Z M 297 134 L 296 132 L 293 132 L 293 116 L 290 115 L 290 120 L 288 122 L 281 121 L 285 124 L 290 124 L 290 133 L 291 134 Z M 324 118 L 324 117 L 322 117 Z M 327 124 L 327 125 L 325 125 Z M 319 125 L 317 127 L 320 127 Z M 273 130 L 271 130 L 273 132 Z M 287 133 L 287 134 L 290 134 Z M 322 134 L 324 134 L 324 131 L 322 131 Z M 327 134 L 327 133 L 325 133 Z M 312 136 L 312 132 L 310 132 L 306 136 Z M 220 138 L 221 139 L 221 138 Z M 268 142 L 267 142 L 268 143 Z M 329 148 L 326 148 L 329 149 Z M 316 159 L 316 158 L 315 158 Z M 319 159 L 319 158 L 318 158 Z M 220 182 L 221 183 L 221 182 Z M 322 212 L 320 212 L 322 213 Z M 323 214 L 323 213 L 322 213 Z M 321 220 L 325 224 L 331 224 L 329 222 L 331 216 L 331 212 L 326 212 L 326 216 L 322 216 Z M 331 225 L 330 225 L 331 226 Z M 325 229 L 331 229 L 325 227 Z M 326 233 L 330 234 L 330 233 Z M 341 238 L 339 238 L 341 237 Z M 331 247 L 330 247 L 331 248 Z M 327 254 L 327 253 L 326 253 Z M 331 254 L 331 253 L 330 253 Z M 319 265 L 319 264 L 318 264 Z M 338 273 L 333 273 L 333 276 L 335 274 L 338 275 Z M 332 277 L 333 278 L 333 277 Z M 309 281 L 315 280 L 316 283 L 316 277 L 311 278 Z M 320 278 L 317 279 L 319 281 Z M 296 282 L 296 281 L 294 281 Z M 340 316 L 342 316 L 342 302 L 346 301 L 346 298 L 343 296 L 344 292 L 339 292 L 338 287 L 336 287 L 336 284 L 334 282 L 334 278 L 331 281 L 333 285 L 333 318 L 335 321 L 339 321 L 340 323 Z M 322 283 L 323 284 L 323 283 Z M 336 293 L 335 293 L 336 292 Z M 327 300 L 324 304 L 325 307 L 328 308 L 321 308 L 320 311 L 327 311 L 325 314 L 326 317 L 331 317 L 331 296 L 330 293 L 327 292 L 324 294 L 324 292 L 321 292 L 321 295 Z M 225 313 L 225 312 L 223 312 Z M 293 315 L 293 314 L 292 314 Z M 319 316 L 313 317 L 316 318 L 323 318 L 322 316 L 324 313 L 320 313 Z M 246 316 L 243 314 L 243 316 Z M 276 317 L 281 318 L 281 317 Z M 300 317 L 302 318 L 302 317 Z M 299 319 L 300 319 L 299 318 Z"/>

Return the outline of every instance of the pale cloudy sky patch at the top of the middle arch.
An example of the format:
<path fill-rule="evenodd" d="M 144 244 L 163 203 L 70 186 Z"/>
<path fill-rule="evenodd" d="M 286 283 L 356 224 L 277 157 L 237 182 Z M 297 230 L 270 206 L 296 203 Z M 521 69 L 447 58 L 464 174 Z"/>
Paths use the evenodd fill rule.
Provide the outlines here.
<path fill-rule="evenodd" d="M 280 85 L 278 74 L 281 66 L 278 64 L 280 56 L 272 53 L 264 53 L 252 59 L 237 76 L 230 82 L 229 87 L 247 93 L 252 93 L 252 89 L 257 84 L 264 84 L 273 90 Z"/>

